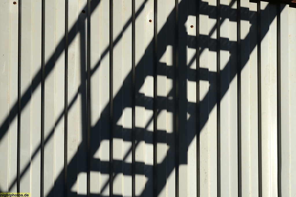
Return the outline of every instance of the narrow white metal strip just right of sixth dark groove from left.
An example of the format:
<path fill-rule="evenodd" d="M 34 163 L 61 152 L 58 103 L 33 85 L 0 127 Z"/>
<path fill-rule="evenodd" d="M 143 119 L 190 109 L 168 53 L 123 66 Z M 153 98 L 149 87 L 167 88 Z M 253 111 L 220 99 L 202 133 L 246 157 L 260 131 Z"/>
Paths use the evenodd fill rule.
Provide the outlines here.
<path fill-rule="evenodd" d="M 145 1 L 135 1 L 135 10 L 139 12 L 135 19 L 135 195 L 140 196 L 145 190 L 145 24 L 149 20 L 141 6 Z M 147 9 L 147 5 L 145 5 Z M 148 21 L 149 22 L 149 21 Z M 154 22 L 150 22 L 150 24 Z M 137 164 L 138 163 L 138 164 Z"/>

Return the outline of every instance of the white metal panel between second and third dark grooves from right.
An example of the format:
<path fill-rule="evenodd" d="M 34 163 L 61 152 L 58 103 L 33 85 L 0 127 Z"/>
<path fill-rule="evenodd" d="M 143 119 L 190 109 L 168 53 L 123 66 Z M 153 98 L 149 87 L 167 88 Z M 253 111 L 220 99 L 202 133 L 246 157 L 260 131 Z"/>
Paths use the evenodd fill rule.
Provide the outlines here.
<path fill-rule="evenodd" d="M 241 1 L 242 195 L 258 194 L 257 4 Z"/>

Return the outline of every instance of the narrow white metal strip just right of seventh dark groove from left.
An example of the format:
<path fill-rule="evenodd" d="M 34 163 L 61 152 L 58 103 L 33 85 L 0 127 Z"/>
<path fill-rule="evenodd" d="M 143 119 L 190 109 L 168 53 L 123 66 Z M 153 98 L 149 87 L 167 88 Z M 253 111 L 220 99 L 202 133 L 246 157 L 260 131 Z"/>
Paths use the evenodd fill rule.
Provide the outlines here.
<path fill-rule="evenodd" d="M 166 8 L 166 1 L 157 1 L 157 8 Z M 157 11 L 158 11 L 157 9 Z M 158 196 L 167 195 L 167 12 L 157 12 L 157 188 Z M 162 40 L 162 42 L 160 42 Z M 164 60 L 164 61 L 163 61 Z"/>

